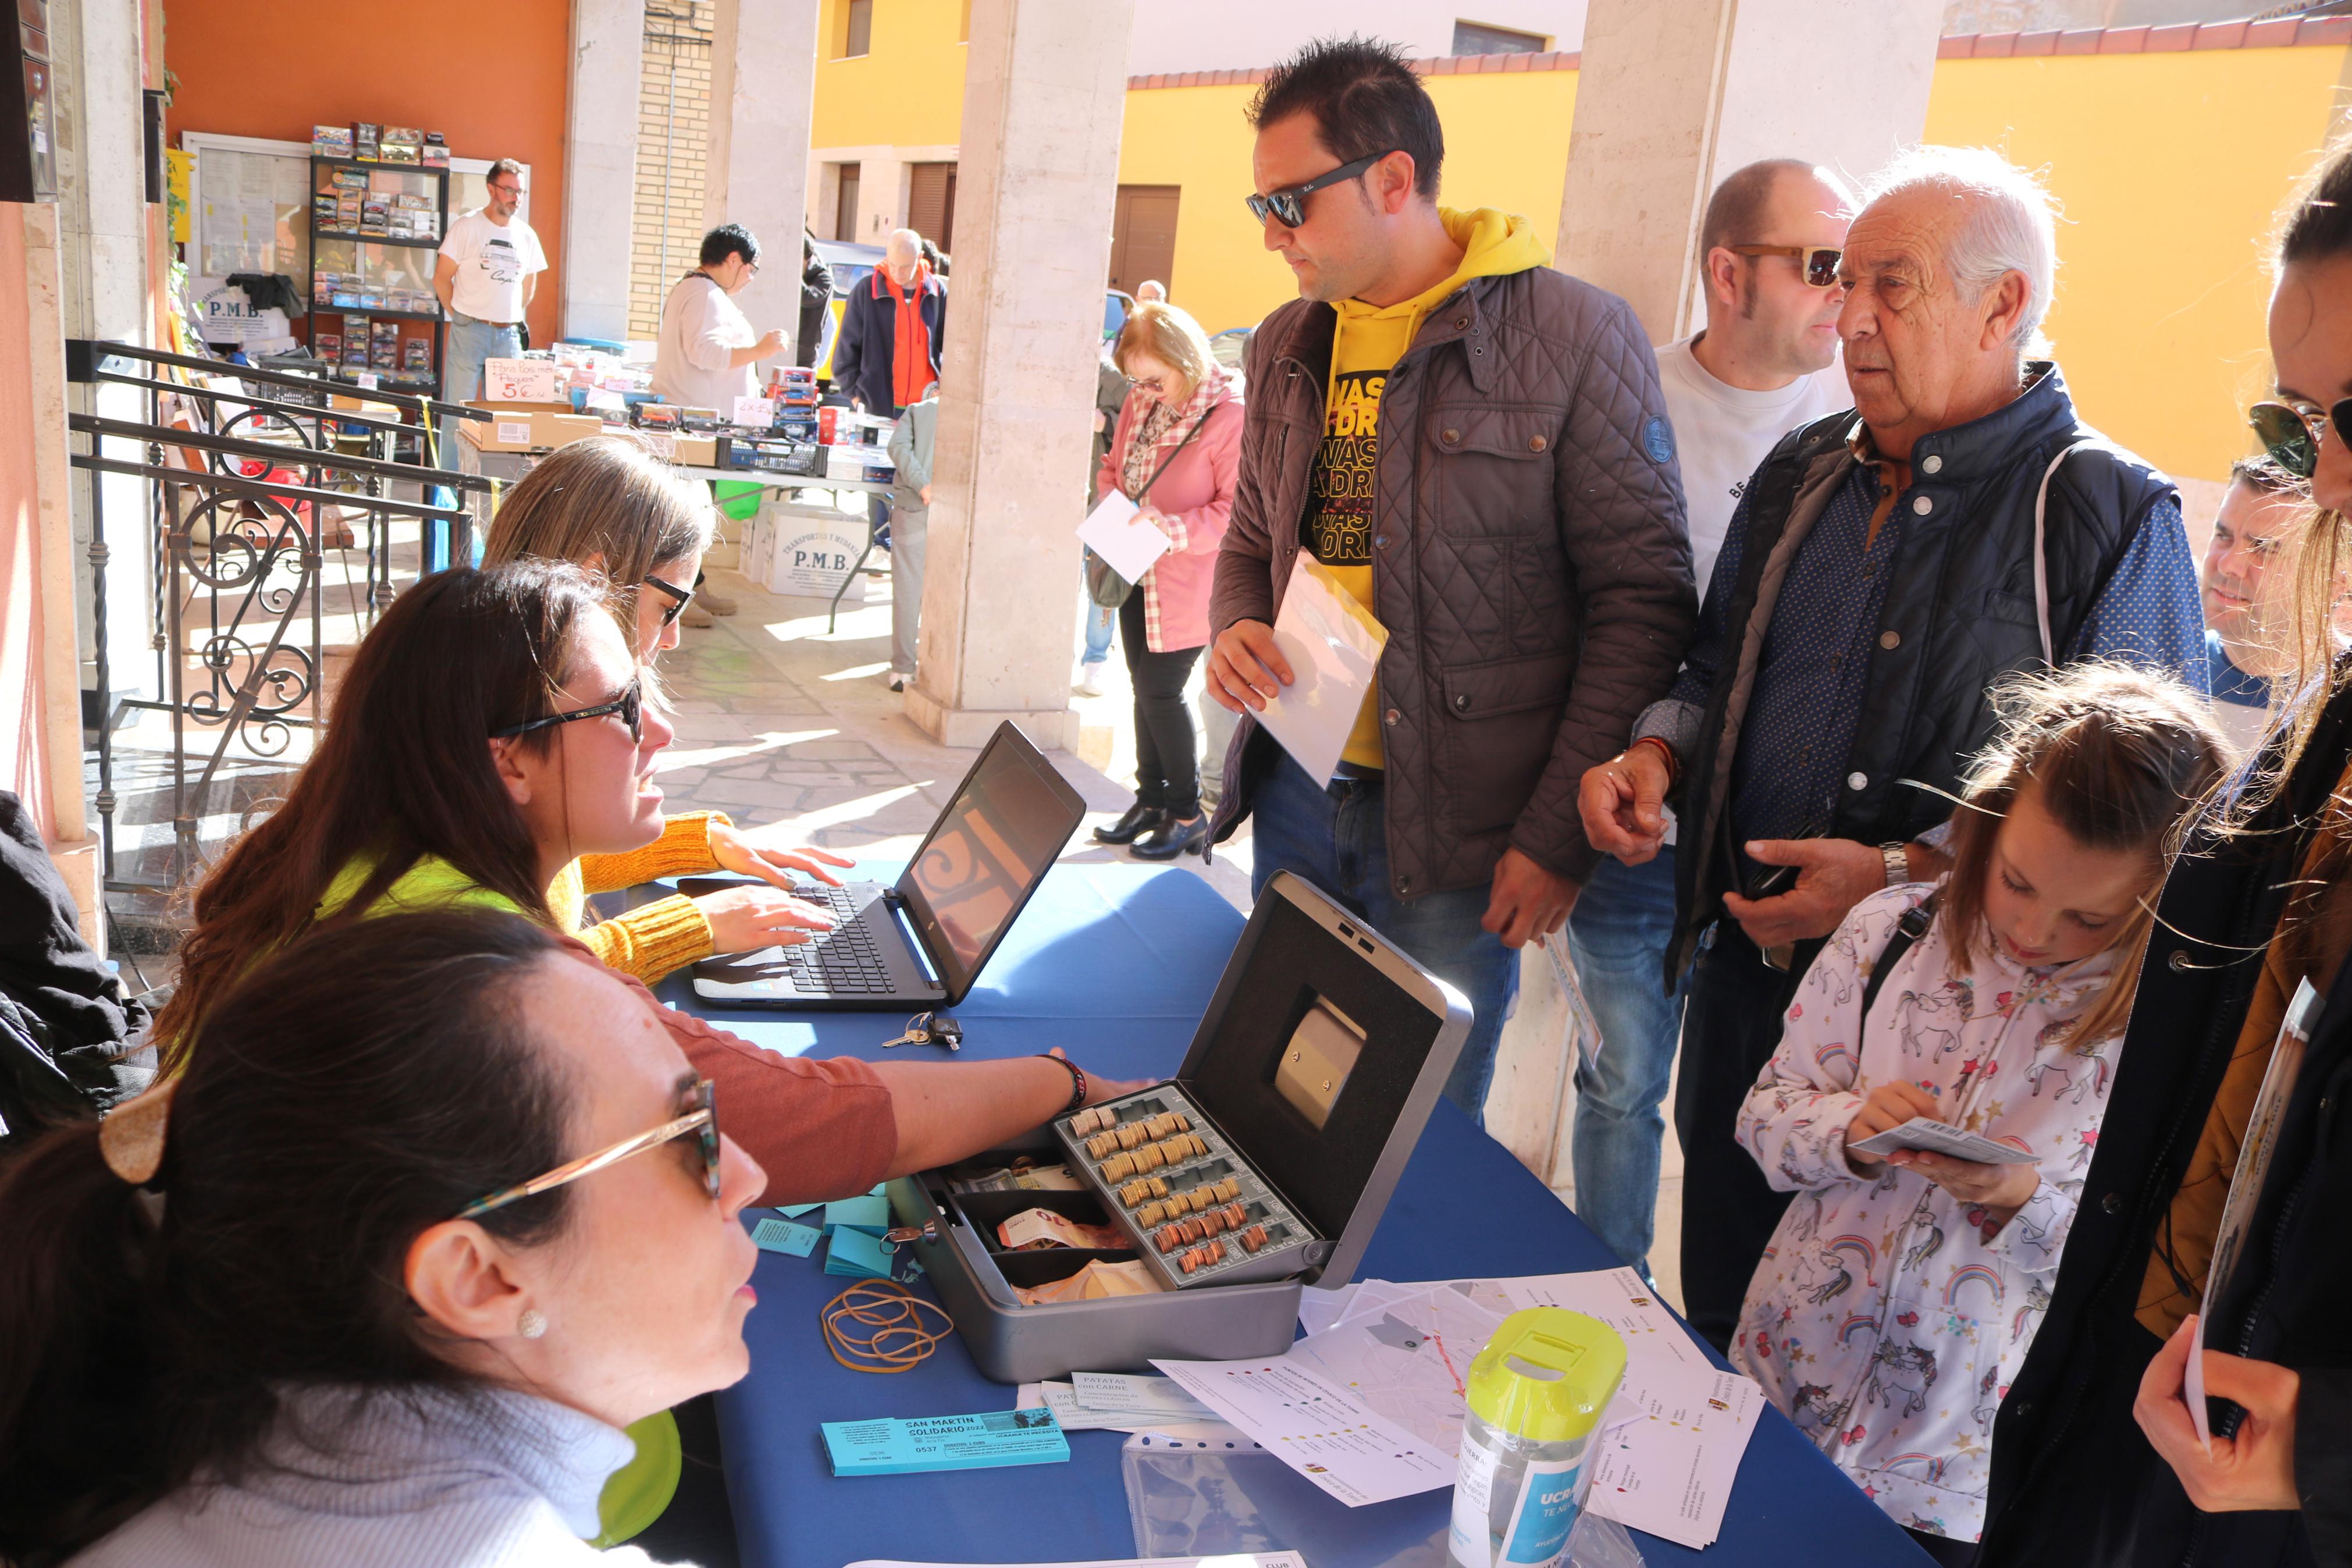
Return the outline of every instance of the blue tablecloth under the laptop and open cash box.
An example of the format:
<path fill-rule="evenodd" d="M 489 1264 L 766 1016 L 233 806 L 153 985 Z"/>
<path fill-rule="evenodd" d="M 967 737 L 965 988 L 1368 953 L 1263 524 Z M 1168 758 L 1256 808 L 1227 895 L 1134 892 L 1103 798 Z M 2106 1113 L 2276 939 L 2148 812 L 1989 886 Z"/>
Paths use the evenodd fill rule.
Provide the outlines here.
<path fill-rule="evenodd" d="M 858 867 L 889 877 L 896 867 Z M 1204 882 L 1136 865 L 1061 865 L 955 1009 L 964 1060 L 1061 1046 L 1087 1070 L 1150 1077 L 1176 1070 L 1209 1004 L 1242 917 Z M 746 1039 L 790 1053 L 884 1060 L 891 1013 L 757 1013 L 703 1006 L 684 976 L 661 997 Z M 901 1053 L 906 1046 L 901 1046 Z M 924 1051 L 936 1058 L 938 1051 Z M 1616 1258 L 1501 1145 L 1439 1103 L 1364 1255 L 1374 1279 L 1458 1279 L 1599 1269 Z M 750 1375 L 717 1396 L 727 1493 L 743 1563 L 842 1568 L 856 1559 L 1056 1563 L 1134 1554 L 1117 1432 L 1073 1432 L 1068 1465 L 866 1476 L 837 1481 L 818 1422 L 873 1415 L 962 1415 L 1011 1406 L 957 1340 L 898 1375 L 835 1366 L 816 1314 L 847 1281 L 823 1258 L 764 1255 L 750 1314 Z M 917 1291 L 922 1286 L 917 1284 Z M 1350 1509 L 1291 1542 L 1315 1568 L 1381 1561 L 1399 1540 L 1425 1540 L 1451 1493 Z M 1705 1561 L 1842 1566 L 1926 1561 L 1863 1493 L 1766 1410 L 1705 1554 L 1637 1537 L 1649 1563 Z"/>

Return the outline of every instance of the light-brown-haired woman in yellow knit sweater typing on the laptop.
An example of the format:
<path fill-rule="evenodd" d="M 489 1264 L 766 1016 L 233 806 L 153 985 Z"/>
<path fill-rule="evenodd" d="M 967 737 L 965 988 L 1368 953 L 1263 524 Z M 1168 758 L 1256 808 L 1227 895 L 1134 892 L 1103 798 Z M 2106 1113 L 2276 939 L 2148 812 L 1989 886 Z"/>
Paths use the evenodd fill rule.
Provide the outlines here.
<path fill-rule="evenodd" d="M 555 451 L 506 496 L 482 559 L 496 567 L 541 557 L 602 574 L 637 658 L 652 663 L 677 646 L 677 616 L 701 583 L 710 534 L 710 496 L 699 482 L 677 477 L 640 437 L 600 435 Z M 588 893 L 654 877 L 731 870 L 769 884 L 670 896 L 581 931 L 600 959 L 652 985 L 713 952 L 802 943 L 809 931 L 823 931 L 828 922 L 793 898 L 790 872 L 840 886 L 828 865 L 851 860 L 823 849 L 786 849 L 771 832 L 736 827 L 724 811 L 682 811 L 644 849 L 583 856 L 550 898 L 560 919 L 574 926 Z"/>

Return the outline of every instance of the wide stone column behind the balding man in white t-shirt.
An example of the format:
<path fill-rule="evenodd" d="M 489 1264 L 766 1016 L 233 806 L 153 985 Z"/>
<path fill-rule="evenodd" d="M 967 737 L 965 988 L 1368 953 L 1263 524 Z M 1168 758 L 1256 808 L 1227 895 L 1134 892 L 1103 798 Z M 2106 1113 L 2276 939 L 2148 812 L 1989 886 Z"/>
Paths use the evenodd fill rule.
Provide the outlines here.
<path fill-rule="evenodd" d="M 1919 139 L 1940 33 L 1943 0 L 1592 0 L 1555 266 L 1651 341 L 1686 336 L 1722 176 L 1811 158 L 1867 179 Z"/>

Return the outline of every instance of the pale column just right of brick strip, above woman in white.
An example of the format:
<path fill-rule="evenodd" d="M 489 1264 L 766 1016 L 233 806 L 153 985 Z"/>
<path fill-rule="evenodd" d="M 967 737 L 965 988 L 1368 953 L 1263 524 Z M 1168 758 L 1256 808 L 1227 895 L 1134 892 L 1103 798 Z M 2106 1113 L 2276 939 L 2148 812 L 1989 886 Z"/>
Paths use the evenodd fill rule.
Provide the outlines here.
<path fill-rule="evenodd" d="M 703 226 L 760 235 L 760 275 L 736 296 L 760 331 L 800 331 L 800 235 L 816 96 L 818 0 L 717 0 L 710 40 L 710 183 Z M 790 343 L 771 364 L 800 364 Z"/>

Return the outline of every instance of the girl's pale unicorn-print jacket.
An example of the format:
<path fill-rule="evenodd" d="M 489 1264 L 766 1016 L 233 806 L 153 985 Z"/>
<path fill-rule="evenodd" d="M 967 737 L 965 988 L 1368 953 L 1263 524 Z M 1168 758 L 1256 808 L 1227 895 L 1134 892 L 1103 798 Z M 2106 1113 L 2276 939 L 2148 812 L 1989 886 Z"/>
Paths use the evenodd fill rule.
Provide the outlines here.
<path fill-rule="evenodd" d="M 2065 1034 L 2117 954 L 2025 969 L 1980 933 L 1962 966 L 1938 914 L 1863 1030 L 1872 964 L 1931 891 L 1853 905 L 1740 1107 L 1740 1145 L 1797 1199 L 1748 1284 L 1731 1361 L 1898 1523 L 1976 1540 L 1992 1418 L 2049 1307 L 2122 1044 Z M 1912 1171 L 1853 1173 L 1846 1124 L 1893 1079 L 1936 1095 L 1943 1121 L 2039 1159 L 2042 1185 L 2006 1225 Z"/>

